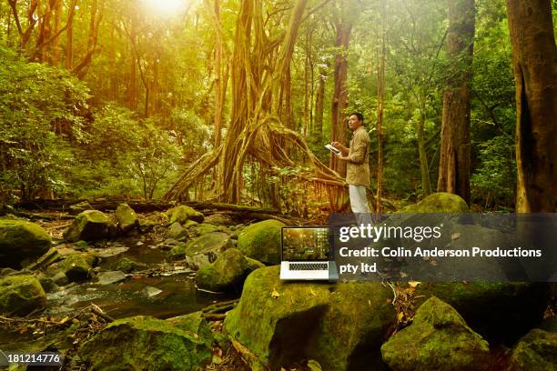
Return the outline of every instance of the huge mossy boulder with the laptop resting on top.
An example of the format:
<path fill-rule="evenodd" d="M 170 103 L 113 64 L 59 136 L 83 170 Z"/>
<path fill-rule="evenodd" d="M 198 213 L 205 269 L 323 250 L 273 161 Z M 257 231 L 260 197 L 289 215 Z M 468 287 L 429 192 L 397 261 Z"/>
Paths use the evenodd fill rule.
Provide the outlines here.
<path fill-rule="evenodd" d="M 275 368 L 315 359 L 324 370 L 377 369 L 391 299 L 380 283 L 283 282 L 268 266 L 248 276 L 224 328 Z"/>

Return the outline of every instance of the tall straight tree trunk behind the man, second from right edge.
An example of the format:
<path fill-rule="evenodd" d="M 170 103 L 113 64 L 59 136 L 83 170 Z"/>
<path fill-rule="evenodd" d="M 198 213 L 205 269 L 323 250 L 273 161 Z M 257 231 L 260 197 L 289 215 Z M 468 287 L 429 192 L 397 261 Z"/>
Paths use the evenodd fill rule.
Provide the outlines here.
<path fill-rule="evenodd" d="M 474 0 L 450 2 L 449 23 L 447 53 L 452 68 L 443 93 L 437 190 L 459 195 L 470 203 L 470 85 L 475 30 Z"/>

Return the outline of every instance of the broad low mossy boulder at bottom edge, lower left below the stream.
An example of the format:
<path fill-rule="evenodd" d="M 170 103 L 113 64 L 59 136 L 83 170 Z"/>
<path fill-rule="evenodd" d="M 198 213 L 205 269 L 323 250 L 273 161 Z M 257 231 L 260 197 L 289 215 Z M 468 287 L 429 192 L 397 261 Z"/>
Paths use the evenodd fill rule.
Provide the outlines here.
<path fill-rule="evenodd" d="M 118 319 L 78 351 L 91 370 L 204 370 L 211 348 L 197 334 L 150 316 Z"/>

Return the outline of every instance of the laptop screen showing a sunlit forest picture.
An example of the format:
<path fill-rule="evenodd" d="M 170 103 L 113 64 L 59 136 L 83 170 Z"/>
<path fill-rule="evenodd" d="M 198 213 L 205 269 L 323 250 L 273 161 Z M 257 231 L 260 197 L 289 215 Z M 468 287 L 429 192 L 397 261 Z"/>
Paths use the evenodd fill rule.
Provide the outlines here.
<path fill-rule="evenodd" d="M 331 243 L 328 226 L 285 226 L 282 228 L 283 261 L 329 260 Z"/>

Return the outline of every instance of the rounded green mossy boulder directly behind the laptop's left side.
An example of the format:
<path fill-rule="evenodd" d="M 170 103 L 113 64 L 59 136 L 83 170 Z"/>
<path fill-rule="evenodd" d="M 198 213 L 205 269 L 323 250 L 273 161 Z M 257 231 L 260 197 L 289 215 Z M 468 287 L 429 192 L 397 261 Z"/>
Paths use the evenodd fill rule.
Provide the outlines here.
<path fill-rule="evenodd" d="M 286 226 L 278 220 L 264 220 L 247 226 L 238 235 L 238 249 L 245 256 L 261 263 L 280 263 L 280 229 Z"/>

